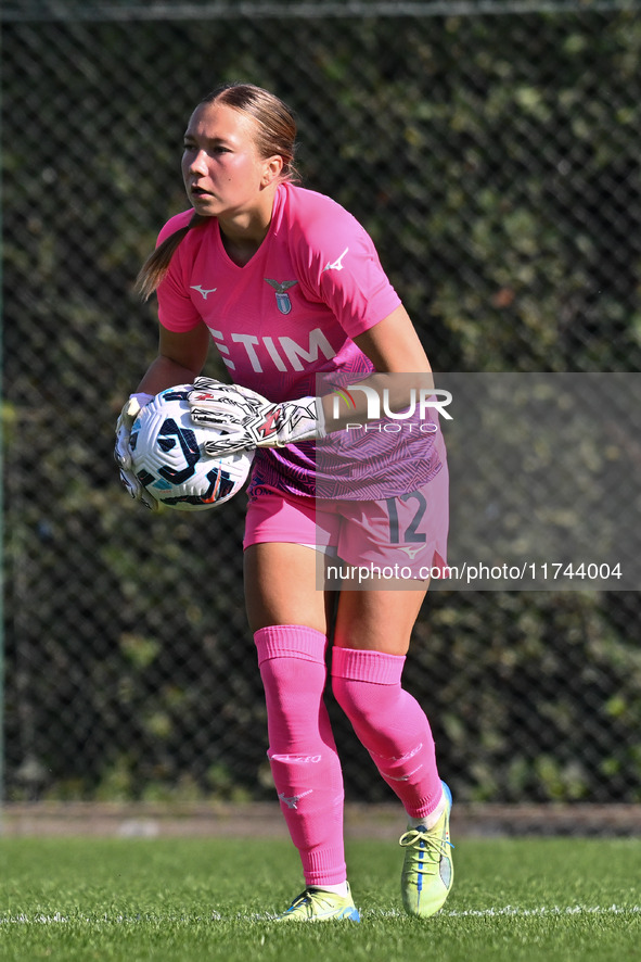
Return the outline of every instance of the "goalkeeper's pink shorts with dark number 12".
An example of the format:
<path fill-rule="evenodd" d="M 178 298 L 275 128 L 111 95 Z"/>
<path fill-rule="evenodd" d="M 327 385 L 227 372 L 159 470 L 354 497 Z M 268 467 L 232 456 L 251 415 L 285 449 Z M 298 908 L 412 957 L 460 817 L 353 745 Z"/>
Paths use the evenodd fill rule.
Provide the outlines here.
<path fill-rule="evenodd" d="M 383 501 L 324 501 L 260 486 L 249 498 L 243 547 L 289 542 L 337 555 L 346 566 L 392 569 L 399 578 L 444 577 L 447 467 L 418 491 Z M 392 577 L 387 574 L 386 577 Z"/>

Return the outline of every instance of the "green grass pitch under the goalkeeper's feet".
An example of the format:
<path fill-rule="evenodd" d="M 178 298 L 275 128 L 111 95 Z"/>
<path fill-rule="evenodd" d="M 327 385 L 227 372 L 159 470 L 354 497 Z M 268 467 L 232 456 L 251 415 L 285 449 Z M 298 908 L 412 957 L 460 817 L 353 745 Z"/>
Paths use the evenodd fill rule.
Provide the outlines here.
<path fill-rule="evenodd" d="M 283 925 L 303 887 L 279 839 L 0 838 L 0 959 L 31 962 L 627 962 L 641 958 L 641 839 L 467 839 L 428 921 L 400 852 L 348 845 L 362 923 Z"/>

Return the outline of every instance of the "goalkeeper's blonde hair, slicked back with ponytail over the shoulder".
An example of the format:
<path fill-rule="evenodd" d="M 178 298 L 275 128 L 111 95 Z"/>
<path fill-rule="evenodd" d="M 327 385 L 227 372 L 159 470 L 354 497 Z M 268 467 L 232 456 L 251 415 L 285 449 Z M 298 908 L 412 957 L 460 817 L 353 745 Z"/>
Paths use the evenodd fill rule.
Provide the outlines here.
<path fill-rule="evenodd" d="M 260 156 L 271 157 L 279 154 L 283 159 L 280 181 L 299 179 L 294 165 L 296 121 L 282 100 L 254 84 L 223 84 L 201 100 L 201 104 L 215 102 L 246 113 L 257 122 L 255 144 Z M 165 238 L 163 243 L 150 254 L 136 280 L 136 290 L 145 301 L 167 274 L 174 252 L 182 239 L 190 230 L 202 227 L 208 220 L 209 217 L 203 217 L 194 212 L 185 227 Z"/>

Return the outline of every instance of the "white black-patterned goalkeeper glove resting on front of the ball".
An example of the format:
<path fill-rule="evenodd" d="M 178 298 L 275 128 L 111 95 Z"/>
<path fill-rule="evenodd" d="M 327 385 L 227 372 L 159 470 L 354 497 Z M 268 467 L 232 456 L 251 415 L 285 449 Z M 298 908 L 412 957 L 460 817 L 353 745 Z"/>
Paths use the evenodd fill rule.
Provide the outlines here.
<path fill-rule="evenodd" d="M 192 420 L 223 432 L 205 442 L 209 455 L 256 447 L 284 447 L 324 435 L 318 397 L 277 404 L 241 384 L 196 378 L 188 395 Z"/>

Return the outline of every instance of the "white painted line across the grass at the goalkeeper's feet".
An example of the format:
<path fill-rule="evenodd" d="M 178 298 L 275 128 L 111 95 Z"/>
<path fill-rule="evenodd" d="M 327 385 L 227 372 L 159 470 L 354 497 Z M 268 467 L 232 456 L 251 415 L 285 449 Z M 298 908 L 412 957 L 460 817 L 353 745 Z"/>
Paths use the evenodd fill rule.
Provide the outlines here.
<path fill-rule="evenodd" d="M 517 906 L 491 907 L 488 909 L 453 909 L 451 911 L 441 911 L 441 916 L 447 919 L 498 919 L 502 916 L 511 917 L 557 917 L 569 915 L 641 915 L 641 906 L 538 906 L 533 909 L 523 909 Z M 156 915 L 155 913 L 142 913 L 140 915 L 85 915 L 82 913 L 73 915 L 63 915 L 61 912 L 54 912 L 53 915 L 36 913 L 27 915 L 20 912 L 15 915 L 0 916 L 0 926 L 2 925 L 64 925 L 86 923 L 90 925 L 139 925 L 144 922 L 270 922 L 273 915 L 260 914 L 242 914 L 236 913 L 229 916 L 220 915 L 218 912 L 211 912 L 210 915 Z M 375 919 L 407 919 L 405 912 L 396 909 L 389 911 L 370 909 L 361 912 L 363 921 Z"/>

